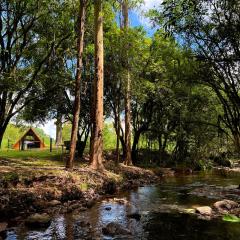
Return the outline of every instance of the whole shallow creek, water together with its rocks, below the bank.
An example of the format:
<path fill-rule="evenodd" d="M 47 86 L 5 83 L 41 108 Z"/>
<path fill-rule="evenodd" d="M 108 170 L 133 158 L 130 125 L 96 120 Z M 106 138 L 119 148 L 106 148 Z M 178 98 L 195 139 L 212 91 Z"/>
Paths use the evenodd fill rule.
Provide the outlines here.
<path fill-rule="evenodd" d="M 205 239 L 236 240 L 240 234 L 239 223 L 222 218 L 231 218 L 225 215 L 230 212 L 234 215 L 240 206 L 232 201 L 219 201 L 229 198 L 240 203 L 238 180 L 238 177 L 210 172 L 165 177 L 157 185 L 144 184 L 113 195 L 101 195 L 102 199 L 100 196 L 89 209 L 87 206 L 82 210 L 70 209 L 66 214 L 46 212 L 44 215 L 42 212 L 10 222 L 4 239 L 169 240 L 184 236 L 190 240 L 204 236 Z M 74 201 L 71 203 L 74 206 Z M 76 205 L 78 203 L 76 201 Z M 236 217 L 230 220 L 238 221 Z M 43 228 L 39 229 L 39 224 Z M 226 237 L 229 234 L 231 237 Z"/>

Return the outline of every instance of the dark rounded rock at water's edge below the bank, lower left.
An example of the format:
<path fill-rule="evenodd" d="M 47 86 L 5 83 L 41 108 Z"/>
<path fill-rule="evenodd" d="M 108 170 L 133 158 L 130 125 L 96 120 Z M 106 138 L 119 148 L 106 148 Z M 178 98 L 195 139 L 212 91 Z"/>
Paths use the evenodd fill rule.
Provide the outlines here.
<path fill-rule="evenodd" d="M 47 213 L 33 214 L 27 218 L 25 224 L 29 227 L 48 227 L 51 223 L 51 217 Z"/>

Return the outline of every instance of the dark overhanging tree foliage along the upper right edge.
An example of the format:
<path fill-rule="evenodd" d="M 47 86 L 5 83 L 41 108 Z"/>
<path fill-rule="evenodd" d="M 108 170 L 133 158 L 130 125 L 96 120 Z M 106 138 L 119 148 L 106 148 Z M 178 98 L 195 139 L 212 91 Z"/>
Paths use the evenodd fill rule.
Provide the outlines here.
<path fill-rule="evenodd" d="M 182 45 L 190 48 L 192 55 L 198 59 L 202 76 L 198 82 L 211 88 L 211 95 L 213 92 L 216 94 L 214 98 L 218 106 L 215 118 L 218 118 L 219 132 L 225 136 L 231 135 L 238 153 L 239 10 L 237 0 L 164 0 L 161 8 L 149 13 L 156 24 L 165 27 L 166 35 L 174 36 Z M 213 101 L 208 102 L 208 106 L 210 104 Z"/>

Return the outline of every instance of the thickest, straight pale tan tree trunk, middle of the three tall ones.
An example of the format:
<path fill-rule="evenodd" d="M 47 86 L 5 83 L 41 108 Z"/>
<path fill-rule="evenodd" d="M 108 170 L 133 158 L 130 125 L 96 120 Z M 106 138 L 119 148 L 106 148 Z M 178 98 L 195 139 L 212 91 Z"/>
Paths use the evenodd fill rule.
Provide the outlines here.
<path fill-rule="evenodd" d="M 95 79 L 92 123 L 91 167 L 103 170 L 103 12 L 102 0 L 94 2 L 95 15 Z"/>

